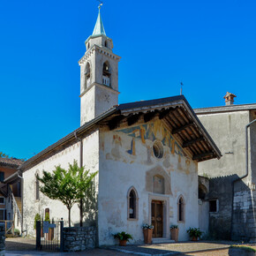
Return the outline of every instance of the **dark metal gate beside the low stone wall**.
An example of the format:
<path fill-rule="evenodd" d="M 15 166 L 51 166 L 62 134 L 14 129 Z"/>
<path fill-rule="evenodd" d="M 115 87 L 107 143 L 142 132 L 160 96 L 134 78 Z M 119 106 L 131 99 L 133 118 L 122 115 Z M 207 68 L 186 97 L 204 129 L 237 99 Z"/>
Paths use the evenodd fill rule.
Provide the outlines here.
<path fill-rule="evenodd" d="M 36 250 L 64 251 L 64 222 L 36 222 Z"/>

